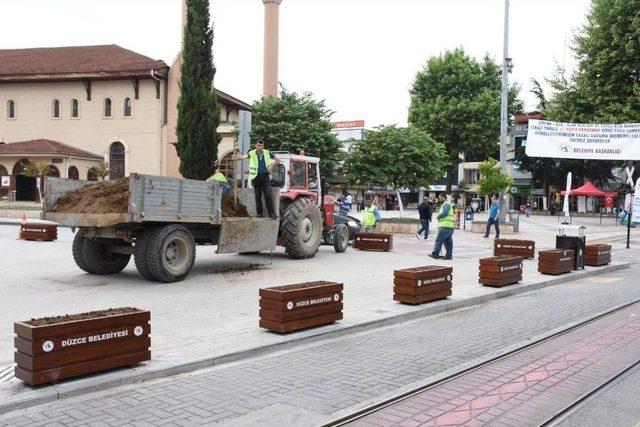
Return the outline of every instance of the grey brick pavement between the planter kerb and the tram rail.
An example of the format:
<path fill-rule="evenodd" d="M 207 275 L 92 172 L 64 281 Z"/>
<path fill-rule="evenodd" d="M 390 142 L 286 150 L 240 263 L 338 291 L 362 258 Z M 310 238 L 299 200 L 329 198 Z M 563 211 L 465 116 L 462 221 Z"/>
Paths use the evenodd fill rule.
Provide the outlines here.
<path fill-rule="evenodd" d="M 56 401 L 0 425 L 318 425 L 640 299 L 640 268 Z"/>

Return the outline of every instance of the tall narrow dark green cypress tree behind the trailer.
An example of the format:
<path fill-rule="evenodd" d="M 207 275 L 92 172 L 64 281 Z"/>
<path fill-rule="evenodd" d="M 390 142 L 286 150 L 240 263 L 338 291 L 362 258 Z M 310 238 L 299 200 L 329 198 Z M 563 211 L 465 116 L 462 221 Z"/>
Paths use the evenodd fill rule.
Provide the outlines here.
<path fill-rule="evenodd" d="M 209 0 L 187 0 L 175 146 L 182 176 L 201 180 L 215 171 L 220 124 L 213 90 L 213 26 L 209 22 Z"/>

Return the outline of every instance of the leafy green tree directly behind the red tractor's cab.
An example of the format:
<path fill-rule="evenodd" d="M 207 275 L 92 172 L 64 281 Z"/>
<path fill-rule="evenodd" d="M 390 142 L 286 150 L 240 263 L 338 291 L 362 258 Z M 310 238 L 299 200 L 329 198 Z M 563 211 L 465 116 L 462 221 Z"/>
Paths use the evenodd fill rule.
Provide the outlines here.
<path fill-rule="evenodd" d="M 264 140 L 271 151 L 304 150 L 320 157 L 321 173 L 329 176 L 340 157 L 340 142 L 331 133 L 332 115 L 325 101 L 311 93 L 283 90 L 279 98 L 267 96 L 253 103 L 251 137 Z"/>

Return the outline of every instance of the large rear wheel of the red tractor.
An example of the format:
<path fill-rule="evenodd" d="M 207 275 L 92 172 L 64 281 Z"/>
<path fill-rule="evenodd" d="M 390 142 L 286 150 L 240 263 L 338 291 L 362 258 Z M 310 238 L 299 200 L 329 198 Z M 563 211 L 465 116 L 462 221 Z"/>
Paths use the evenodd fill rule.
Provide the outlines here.
<path fill-rule="evenodd" d="M 322 216 L 318 207 L 307 197 L 296 199 L 284 211 L 280 230 L 289 257 L 313 257 L 322 240 Z"/>

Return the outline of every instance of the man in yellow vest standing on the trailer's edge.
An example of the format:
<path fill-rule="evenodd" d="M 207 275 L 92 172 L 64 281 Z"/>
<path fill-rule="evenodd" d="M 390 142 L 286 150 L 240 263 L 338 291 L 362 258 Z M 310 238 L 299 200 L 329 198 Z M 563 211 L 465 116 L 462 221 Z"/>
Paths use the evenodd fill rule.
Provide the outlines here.
<path fill-rule="evenodd" d="M 269 150 L 265 150 L 264 141 L 256 140 L 255 148 L 249 151 L 249 154 L 232 156 L 233 160 L 249 159 L 249 181 L 253 187 L 256 196 L 256 212 L 258 216 L 262 215 L 262 195 L 264 194 L 264 202 L 267 205 L 267 213 L 271 218 L 277 218 L 273 209 L 273 201 L 271 200 L 271 167 L 280 163 L 277 157 L 271 157 Z"/>

